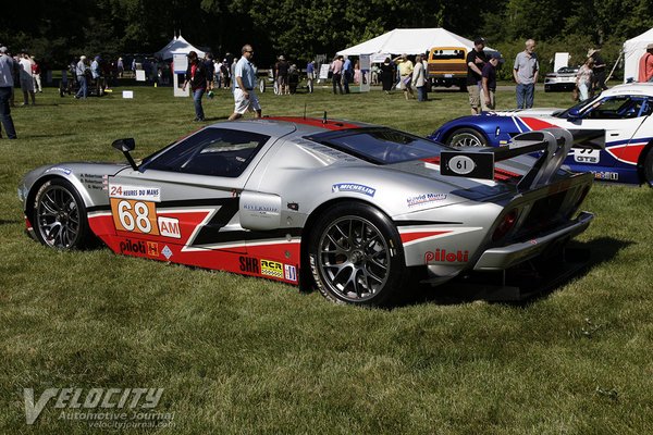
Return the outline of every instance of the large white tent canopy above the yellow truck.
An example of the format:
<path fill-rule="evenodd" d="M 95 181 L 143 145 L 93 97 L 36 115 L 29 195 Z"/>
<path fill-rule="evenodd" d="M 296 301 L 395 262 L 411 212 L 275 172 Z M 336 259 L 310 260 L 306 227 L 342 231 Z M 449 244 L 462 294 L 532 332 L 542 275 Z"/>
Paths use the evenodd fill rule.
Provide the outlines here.
<path fill-rule="evenodd" d="M 435 28 L 395 28 L 381 36 L 338 51 L 342 55 L 360 54 L 421 54 L 431 47 L 473 48 L 473 41 L 451 33 L 442 27 Z"/>

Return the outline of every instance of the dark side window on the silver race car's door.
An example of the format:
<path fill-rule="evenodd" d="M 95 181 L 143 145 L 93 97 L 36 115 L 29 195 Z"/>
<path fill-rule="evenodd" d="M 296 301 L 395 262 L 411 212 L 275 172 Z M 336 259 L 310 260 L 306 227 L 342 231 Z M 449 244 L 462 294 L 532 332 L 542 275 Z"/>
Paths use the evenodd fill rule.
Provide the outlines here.
<path fill-rule="evenodd" d="M 237 177 L 270 137 L 206 128 L 148 162 L 147 167 L 186 174 Z"/>

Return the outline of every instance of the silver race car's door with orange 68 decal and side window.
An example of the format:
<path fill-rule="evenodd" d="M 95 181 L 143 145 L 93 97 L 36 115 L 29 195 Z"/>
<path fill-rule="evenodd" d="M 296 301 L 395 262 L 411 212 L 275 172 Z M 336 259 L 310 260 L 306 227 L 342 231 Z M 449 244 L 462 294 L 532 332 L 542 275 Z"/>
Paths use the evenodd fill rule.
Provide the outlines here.
<path fill-rule="evenodd" d="M 138 171 L 123 170 L 108 189 L 116 234 L 132 241 L 127 249 L 150 257 L 246 252 L 238 197 L 271 141 L 260 133 L 206 128 L 146 159 Z M 204 265 L 197 258 L 182 262 Z"/>

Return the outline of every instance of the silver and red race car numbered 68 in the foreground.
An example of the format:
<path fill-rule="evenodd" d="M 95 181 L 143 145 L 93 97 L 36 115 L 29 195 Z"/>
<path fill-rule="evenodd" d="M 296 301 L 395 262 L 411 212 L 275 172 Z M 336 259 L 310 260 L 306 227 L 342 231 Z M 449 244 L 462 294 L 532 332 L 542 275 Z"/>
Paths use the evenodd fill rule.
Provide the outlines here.
<path fill-rule="evenodd" d="M 554 129 L 454 150 L 375 125 L 268 117 L 207 126 L 138 164 L 134 139 L 120 139 L 128 164 L 39 167 L 19 196 L 51 248 L 99 238 L 378 306 L 411 276 L 435 285 L 558 253 L 593 219 L 578 211 L 592 175 L 560 169 L 571 145 Z"/>

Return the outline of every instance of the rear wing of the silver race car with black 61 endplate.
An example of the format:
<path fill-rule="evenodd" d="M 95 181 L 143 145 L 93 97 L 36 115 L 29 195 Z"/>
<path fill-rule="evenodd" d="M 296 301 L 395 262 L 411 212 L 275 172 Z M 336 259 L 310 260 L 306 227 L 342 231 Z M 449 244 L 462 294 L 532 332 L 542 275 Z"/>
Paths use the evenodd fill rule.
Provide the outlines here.
<path fill-rule="evenodd" d="M 517 184 L 519 189 L 531 189 L 551 182 L 575 145 L 603 149 L 605 132 L 546 128 L 515 136 L 507 147 L 442 151 L 440 171 L 442 175 L 493 179 L 495 162 L 540 152 L 534 164 Z"/>

